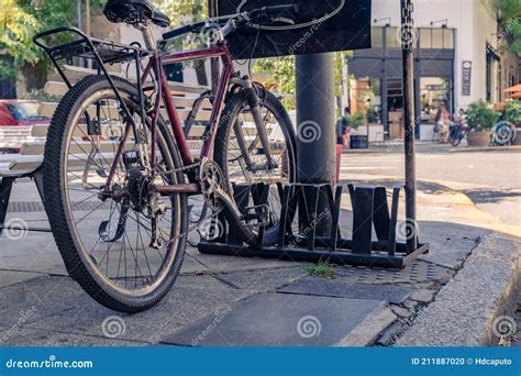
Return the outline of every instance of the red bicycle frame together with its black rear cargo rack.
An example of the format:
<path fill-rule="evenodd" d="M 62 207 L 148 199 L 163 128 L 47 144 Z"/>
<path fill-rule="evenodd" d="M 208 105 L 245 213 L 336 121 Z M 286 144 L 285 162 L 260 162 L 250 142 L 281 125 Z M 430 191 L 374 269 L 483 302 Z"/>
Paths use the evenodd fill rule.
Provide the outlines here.
<path fill-rule="evenodd" d="M 145 33 L 148 32 L 147 29 L 143 30 Z M 53 34 L 70 32 L 79 36 L 79 40 L 69 42 L 58 46 L 48 46 L 45 43 L 41 42 L 40 40 Z M 152 36 L 149 36 L 152 37 Z M 168 87 L 167 76 L 164 66 L 168 64 L 175 63 L 182 63 L 189 60 L 197 60 L 201 58 L 220 58 L 223 64 L 222 74 L 220 77 L 220 82 L 217 89 L 217 95 L 212 106 L 212 112 L 210 115 L 210 136 L 206 137 L 203 142 L 203 146 L 200 153 L 200 161 L 204 158 L 209 158 L 213 148 L 213 143 L 215 141 L 215 131 L 221 118 L 221 112 L 223 109 L 224 100 L 226 97 L 226 91 L 229 84 L 232 78 L 233 74 L 233 62 L 232 57 L 229 52 L 229 47 L 225 43 L 222 45 L 213 45 L 207 48 L 201 49 L 193 49 L 187 52 L 178 52 L 178 53 L 158 53 L 155 49 L 152 41 L 148 41 L 149 44 L 147 47 L 149 49 L 154 48 L 153 52 L 148 49 L 143 49 L 135 45 L 123 45 L 121 43 L 114 43 L 110 41 L 101 41 L 97 38 L 92 38 L 89 35 L 85 34 L 82 31 L 73 27 L 73 26 L 62 26 L 56 27 L 53 30 L 45 31 L 43 33 L 36 34 L 33 37 L 33 41 L 36 45 L 43 48 L 49 58 L 52 59 L 54 66 L 56 67 L 58 74 L 64 79 L 68 88 L 71 88 L 73 85 L 68 80 L 66 74 L 64 73 L 63 68 L 57 63 L 58 59 L 71 56 L 78 56 L 84 58 L 90 58 L 97 62 L 98 64 L 98 74 L 104 75 L 107 77 L 108 82 L 110 84 L 112 90 L 114 91 L 115 98 L 121 103 L 121 108 L 124 112 L 124 115 L 129 120 L 129 123 L 125 125 L 125 130 L 123 131 L 121 143 L 118 147 L 118 151 L 114 156 L 114 162 L 111 166 L 111 170 L 107 178 L 107 183 L 104 186 L 104 193 L 110 193 L 109 189 L 112 184 L 112 180 L 115 176 L 115 172 L 118 168 L 118 163 L 121 161 L 123 152 L 124 152 L 124 144 L 128 140 L 128 136 L 131 130 L 136 131 L 136 124 L 131 115 L 125 102 L 122 100 L 122 97 L 119 93 L 118 88 L 113 79 L 110 76 L 110 73 L 107 70 L 104 63 L 118 63 L 119 59 L 121 62 L 129 62 L 135 60 L 135 68 L 136 68 L 136 79 L 137 79 L 137 90 L 138 90 L 138 101 L 141 107 L 141 118 L 142 121 L 145 121 L 146 114 L 144 112 L 144 99 L 143 99 L 143 82 L 151 78 L 152 74 L 154 75 L 157 84 L 157 99 L 154 106 L 154 112 L 152 115 L 152 126 L 151 126 L 151 155 L 149 155 L 149 167 L 152 172 L 152 177 L 155 178 L 156 167 L 157 167 L 157 155 L 156 155 L 156 140 L 157 140 L 157 122 L 159 119 L 159 111 L 160 111 L 160 101 L 163 100 L 167 117 L 171 124 L 171 133 L 174 135 L 174 142 L 177 143 L 179 147 L 179 152 L 181 155 L 182 166 L 190 166 L 193 165 L 193 159 L 188 146 L 187 139 L 185 136 L 185 132 L 182 129 L 181 121 L 177 113 L 176 106 L 171 98 L 171 92 Z M 145 36 L 146 42 L 146 36 Z M 100 52 L 98 51 L 99 46 L 108 47 L 109 49 L 119 49 L 119 55 L 115 57 L 107 57 L 107 60 L 103 60 Z M 145 69 L 142 71 L 141 67 L 141 59 L 143 57 L 149 57 L 148 64 Z M 88 113 L 85 114 L 87 122 L 90 122 L 90 117 Z M 134 132 L 136 137 L 136 143 L 141 143 L 141 135 L 138 132 Z M 169 195 L 169 193 L 199 193 L 201 191 L 201 187 L 198 184 L 197 176 L 195 174 L 187 174 L 189 184 L 186 185 L 173 185 L 173 186 L 158 186 L 156 187 L 156 191 L 162 195 Z"/>

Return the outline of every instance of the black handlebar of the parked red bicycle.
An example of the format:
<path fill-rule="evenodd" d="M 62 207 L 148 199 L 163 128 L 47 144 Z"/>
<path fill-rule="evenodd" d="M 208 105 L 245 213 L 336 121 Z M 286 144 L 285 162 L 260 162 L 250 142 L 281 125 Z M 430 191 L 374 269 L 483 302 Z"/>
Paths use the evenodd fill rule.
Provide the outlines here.
<path fill-rule="evenodd" d="M 221 21 L 221 24 L 224 23 L 224 26 L 222 26 L 220 32 L 221 32 L 221 35 L 225 37 L 237 29 L 240 21 L 250 22 L 250 21 L 256 21 L 256 20 L 266 18 L 266 16 L 274 18 L 284 12 L 298 13 L 299 10 L 300 8 L 298 4 L 285 4 L 285 5 L 263 7 L 259 9 L 254 9 L 250 12 L 243 12 L 240 14 L 230 15 L 229 18 L 221 18 L 219 20 Z M 169 32 L 164 33 L 163 40 L 168 41 L 182 34 L 198 33 L 201 31 L 202 27 L 204 27 L 208 24 L 210 24 L 210 21 L 207 20 L 207 21 L 195 22 L 195 23 L 190 23 L 190 24 L 174 29 Z"/>

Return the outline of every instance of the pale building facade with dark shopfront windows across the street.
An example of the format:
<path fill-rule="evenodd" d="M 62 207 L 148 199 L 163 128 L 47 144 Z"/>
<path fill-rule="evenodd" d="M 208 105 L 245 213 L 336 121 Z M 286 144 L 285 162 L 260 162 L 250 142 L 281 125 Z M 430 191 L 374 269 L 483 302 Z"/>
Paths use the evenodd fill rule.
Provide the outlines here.
<path fill-rule="evenodd" d="M 498 15 L 494 0 L 414 0 L 418 137 L 432 137 L 440 106 L 455 113 L 478 99 L 498 102 L 520 81 L 519 57 L 501 54 Z M 402 120 L 400 47 L 400 2 L 373 0 L 373 47 L 348 58 L 350 103 L 391 139 Z"/>

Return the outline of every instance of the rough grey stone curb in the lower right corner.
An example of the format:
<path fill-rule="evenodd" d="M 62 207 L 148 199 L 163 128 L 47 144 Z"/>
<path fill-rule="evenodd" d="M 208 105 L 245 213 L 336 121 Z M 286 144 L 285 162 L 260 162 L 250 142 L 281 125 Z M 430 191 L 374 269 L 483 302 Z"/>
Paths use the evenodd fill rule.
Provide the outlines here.
<path fill-rule="evenodd" d="M 501 325 L 496 319 L 514 311 L 520 251 L 519 240 L 499 233 L 486 236 L 396 346 L 496 345 L 494 333 Z"/>

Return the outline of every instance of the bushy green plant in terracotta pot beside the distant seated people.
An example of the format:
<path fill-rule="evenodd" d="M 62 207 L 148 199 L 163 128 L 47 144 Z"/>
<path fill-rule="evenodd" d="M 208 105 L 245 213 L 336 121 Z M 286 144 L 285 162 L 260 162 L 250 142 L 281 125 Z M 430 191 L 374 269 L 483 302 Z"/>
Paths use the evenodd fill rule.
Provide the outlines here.
<path fill-rule="evenodd" d="M 467 109 L 468 146 L 488 146 L 490 144 L 490 130 L 498 120 L 498 112 L 490 108 L 490 103 L 478 100 Z"/>

